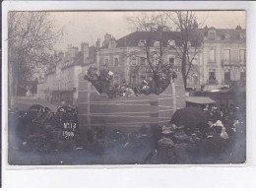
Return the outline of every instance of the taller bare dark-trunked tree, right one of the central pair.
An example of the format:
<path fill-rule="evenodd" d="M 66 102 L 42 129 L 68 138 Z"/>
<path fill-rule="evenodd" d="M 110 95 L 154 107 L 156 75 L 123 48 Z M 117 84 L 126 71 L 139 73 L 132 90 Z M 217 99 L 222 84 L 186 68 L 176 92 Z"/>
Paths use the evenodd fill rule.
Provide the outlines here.
<path fill-rule="evenodd" d="M 172 46 L 172 48 L 181 60 L 181 74 L 186 89 L 193 60 L 196 58 L 203 40 L 203 23 L 198 24 L 195 11 L 174 11 L 165 12 L 165 14 L 176 31 L 180 32 L 178 45 Z"/>

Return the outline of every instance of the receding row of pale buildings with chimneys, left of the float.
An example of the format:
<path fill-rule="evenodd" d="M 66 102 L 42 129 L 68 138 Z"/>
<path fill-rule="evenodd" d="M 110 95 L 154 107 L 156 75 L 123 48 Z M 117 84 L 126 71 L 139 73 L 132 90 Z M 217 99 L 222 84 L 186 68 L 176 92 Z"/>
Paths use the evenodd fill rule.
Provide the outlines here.
<path fill-rule="evenodd" d="M 44 79 L 38 83 L 37 96 L 51 102 L 62 99 L 75 104 L 78 98 L 79 75 L 95 63 L 96 47 L 88 43 L 78 47 L 68 45 L 67 52 L 55 52 Z"/>

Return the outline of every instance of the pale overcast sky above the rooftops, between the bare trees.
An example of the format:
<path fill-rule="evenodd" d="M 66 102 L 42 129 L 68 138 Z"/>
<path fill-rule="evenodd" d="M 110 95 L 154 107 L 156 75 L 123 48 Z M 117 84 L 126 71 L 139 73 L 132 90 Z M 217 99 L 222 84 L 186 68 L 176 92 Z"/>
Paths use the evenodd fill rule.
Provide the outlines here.
<path fill-rule="evenodd" d="M 62 41 L 56 44 L 56 49 L 66 50 L 68 44 L 78 46 L 82 41 L 94 45 L 99 37 L 108 32 L 116 39 L 133 32 L 127 18 L 134 12 L 52 12 L 57 28 L 64 29 Z M 138 12 L 137 12 L 138 14 Z M 246 14 L 243 11 L 199 11 L 197 20 L 208 27 L 219 29 L 234 29 L 240 25 L 245 29 Z"/>

